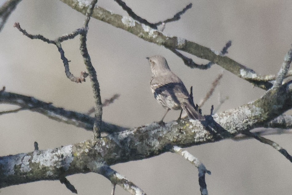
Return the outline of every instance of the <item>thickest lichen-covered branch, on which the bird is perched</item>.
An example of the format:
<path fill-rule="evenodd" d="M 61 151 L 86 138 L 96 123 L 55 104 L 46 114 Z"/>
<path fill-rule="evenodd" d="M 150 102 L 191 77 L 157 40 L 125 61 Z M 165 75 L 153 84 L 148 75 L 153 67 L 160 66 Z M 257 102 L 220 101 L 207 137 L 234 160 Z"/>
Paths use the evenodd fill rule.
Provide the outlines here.
<path fill-rule="evenodd" d="M 189 147 L 233 138 L 291 109 L 291 85 L 286 83 L 254 102 L 206 116 L 203 122 L 181 119 L 164 126 L 152 123 L 56 149 L 3 156 L 0 158 L 0 186 L 59 180 L 61 171 L 64 176 L 90 172 L 88 166 L 93 161 L 111 166 L 157 156 L 175 145 Z"/>

